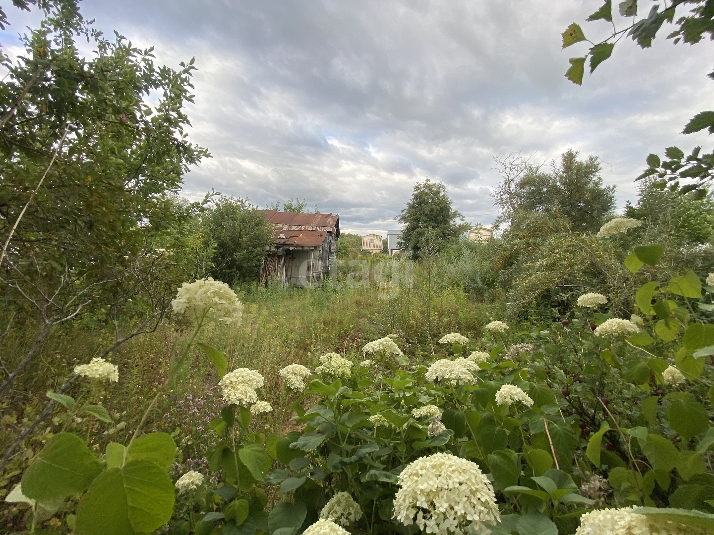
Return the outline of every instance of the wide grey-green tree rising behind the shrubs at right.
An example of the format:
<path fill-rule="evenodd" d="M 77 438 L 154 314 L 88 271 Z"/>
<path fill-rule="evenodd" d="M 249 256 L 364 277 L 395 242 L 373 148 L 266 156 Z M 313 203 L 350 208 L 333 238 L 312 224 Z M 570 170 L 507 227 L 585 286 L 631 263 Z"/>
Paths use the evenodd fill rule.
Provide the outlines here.
<path fill-rule="evenodd" d="M 559 164 L 551 165 L 550 173 L 540 169 L 540 165 L 526 165 L 511 185 L 510 198 L 496 198 L 502 213 L 511 213 L 512 222 L 519 214 L 537 212 L 564 218 L 573 232 L 587 233 L 598 230 L 611 215 L 615 186 L 603 186 L 597 156 L 579 161 L 578 153 L 568 149 Z"/>

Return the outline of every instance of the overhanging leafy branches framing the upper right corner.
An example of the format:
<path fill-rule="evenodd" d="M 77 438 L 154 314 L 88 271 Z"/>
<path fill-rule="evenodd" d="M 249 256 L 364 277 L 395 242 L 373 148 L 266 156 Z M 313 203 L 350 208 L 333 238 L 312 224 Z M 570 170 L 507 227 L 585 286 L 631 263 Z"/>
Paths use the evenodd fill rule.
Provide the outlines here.
<path fill-rule="evenodd" d="M 685 6 L 693 9 L 675 20 L 678 8 L 684 9 Z M 570 68 L 565 73 L 568 80 L 582 85 L 585 61 L 588 57 L 590 58 L 590 73 L 593 73 L 600 63 L 610 58 L 615 44 L 623 36 L 631 36 L 642 49 L 649 48 L 665 22 L 675 26 L 675 30 L 667 36 L 667 39 L 673 39 L 674 44 L 680 42 L 696 44 L 702 41 L 704 34 L 709 34 L 710 39 L 714 39 L 714 9 L 711 0 L 670 0 L 669 4 L 665 1 L 663 11 L 659 11 L 659 4 L 655 4 L 650 9 L 648 16 L 640 19 L 637 16 L 638 0 L 625 0 L 618 4 L 618 8 L 620 16 L 627 21 L 625 26 L 620 29 L 617 29 L 613 21 L 612 0 L 606 0 L 598 11 L 588 17 L 587 21 L 606 21 L 613 28 L 610 36 L 597 44 L 587 39 L 580 25 L 574 22 L 565 29 L 562 34 L 563 49 L 583 41 L 593 45 L 585 56 L 570 58 Z M 714 72 L 709 73 L 708 76 L 714 78 Z M 709 133 L 714 133 L 714 111 L 698 113 L 690 119 L 682 133 L 698 132 L 705 128 Z M 714 180 L 714 153 L 700 154 L 700 152 L 701 147 L 695 147 L 690 156 L 685 157 L 684 152 L 679 148 L 669 147 L 665 150 L 667 161 L 662 161 L 659 156 L 650 154 L 647 158 L 648 168 L 637 180 L 647 176 L 656 176 L 665 185 L 672 183 L 673 188 L 678 189 L 680 193 L 695 190 L 695 197 L 703 197 L 706 195 L 704 186 Z M 678 188 L 680 180 L 694 180 L 694 182 Z"/>

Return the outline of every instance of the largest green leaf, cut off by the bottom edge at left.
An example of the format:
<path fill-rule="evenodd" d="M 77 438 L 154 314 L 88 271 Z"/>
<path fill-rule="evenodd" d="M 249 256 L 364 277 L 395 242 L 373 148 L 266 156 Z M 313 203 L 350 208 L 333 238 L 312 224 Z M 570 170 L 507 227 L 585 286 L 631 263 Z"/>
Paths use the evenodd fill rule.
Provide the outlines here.
<path fill-rule="evenodd" d="M 147 460 L 102 472 L 77 509 L 78 535 L 131 535 L 159 529 L 171 519 L 174 485 L 166 470 Z"/>

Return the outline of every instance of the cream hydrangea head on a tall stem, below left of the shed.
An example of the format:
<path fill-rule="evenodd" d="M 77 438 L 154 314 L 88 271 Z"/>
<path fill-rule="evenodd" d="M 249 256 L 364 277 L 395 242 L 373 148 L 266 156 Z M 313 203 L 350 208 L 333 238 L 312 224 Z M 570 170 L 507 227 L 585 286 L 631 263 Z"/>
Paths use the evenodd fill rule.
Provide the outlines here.
<path fill-rule="evenodd" d="M 240 324 L 243 315 L 243 303 L 238 301 L 236 292 L 225 282 L 198 279 L 196 282 L 183 282 L 176 299 L 171 301 L 171 307 L 177 314 L 193 310 L 196 315 L 205 314 L 213 320 L 224 323 Z"/>

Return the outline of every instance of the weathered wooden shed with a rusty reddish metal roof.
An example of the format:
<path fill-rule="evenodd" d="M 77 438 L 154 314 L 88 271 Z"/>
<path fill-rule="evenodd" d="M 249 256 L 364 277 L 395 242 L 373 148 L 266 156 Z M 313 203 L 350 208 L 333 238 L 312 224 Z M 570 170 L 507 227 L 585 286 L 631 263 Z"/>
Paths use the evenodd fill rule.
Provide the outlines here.
<path fill-rule="evenodd" d="M 266 248 L 260 280 L 288 285 L 319 285 L 335 263 L 340 216 L 258 210 L 273 225 L 273 244 Z"/>

